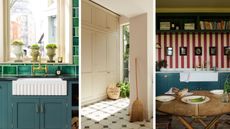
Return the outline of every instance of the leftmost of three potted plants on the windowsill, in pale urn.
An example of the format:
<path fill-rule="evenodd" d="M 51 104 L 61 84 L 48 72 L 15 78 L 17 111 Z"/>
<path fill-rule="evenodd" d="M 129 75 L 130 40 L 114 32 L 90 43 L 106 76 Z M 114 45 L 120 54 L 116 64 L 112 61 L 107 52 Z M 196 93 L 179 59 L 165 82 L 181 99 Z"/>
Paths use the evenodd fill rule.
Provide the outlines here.
<path fill-rule="evenodd" d="M 22 62 L 23 50 L 22 46 L 24 43 L 21 40 L 14 40 L 11 44 L 13 46 L 13 53 L 16 56 L 15 62 Z"/>

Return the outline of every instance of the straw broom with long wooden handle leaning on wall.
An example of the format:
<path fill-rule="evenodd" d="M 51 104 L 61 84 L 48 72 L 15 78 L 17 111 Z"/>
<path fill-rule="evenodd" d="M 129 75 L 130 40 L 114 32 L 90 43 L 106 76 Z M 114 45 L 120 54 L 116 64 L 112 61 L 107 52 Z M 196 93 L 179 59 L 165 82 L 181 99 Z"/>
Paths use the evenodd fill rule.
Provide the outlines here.
<path fill-rule="evenodd" d="M 136 76 L 136 95 L 137 95 L 137 98 L 133 102 L 133 105 L 132 105 L 130 122 L 143 121 L 143 104 L 139 100 L 139 96 L 138 96 L 137 58 L 135 58 L 135 76 Z"/>

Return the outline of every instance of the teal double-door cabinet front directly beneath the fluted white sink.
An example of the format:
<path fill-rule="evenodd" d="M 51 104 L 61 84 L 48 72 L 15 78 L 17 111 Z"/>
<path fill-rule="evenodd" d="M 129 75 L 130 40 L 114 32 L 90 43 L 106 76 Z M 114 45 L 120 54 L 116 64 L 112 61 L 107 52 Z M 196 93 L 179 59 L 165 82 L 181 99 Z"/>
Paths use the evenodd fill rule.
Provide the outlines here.
<path fill-rule="evenodd" d="M 69 129 L 66 99 L 14 97 L 12 99 L 13 129 Z"/>

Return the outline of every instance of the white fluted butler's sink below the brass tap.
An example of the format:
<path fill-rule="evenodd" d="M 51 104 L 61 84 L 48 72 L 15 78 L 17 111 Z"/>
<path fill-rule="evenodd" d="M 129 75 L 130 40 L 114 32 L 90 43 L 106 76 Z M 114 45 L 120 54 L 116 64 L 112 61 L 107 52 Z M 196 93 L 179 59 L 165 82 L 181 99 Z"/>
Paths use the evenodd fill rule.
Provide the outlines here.
<path fill-rule="evenodd" d="M 67 95 L 67 81 L 61 78 L 19 78 L 13 81 L 13 95 Z"/>

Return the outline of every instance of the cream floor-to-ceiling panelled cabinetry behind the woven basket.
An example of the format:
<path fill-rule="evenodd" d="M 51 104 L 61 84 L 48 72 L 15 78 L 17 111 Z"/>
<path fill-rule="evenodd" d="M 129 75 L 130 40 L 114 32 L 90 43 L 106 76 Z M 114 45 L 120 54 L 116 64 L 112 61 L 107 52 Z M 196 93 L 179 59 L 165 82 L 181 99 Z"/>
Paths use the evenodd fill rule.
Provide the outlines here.
<path fill-rule="evenodd" d="M 82 103 L 106 97 L 106 87 L 119 81 L 118 16 L 82 2 Z"/>

